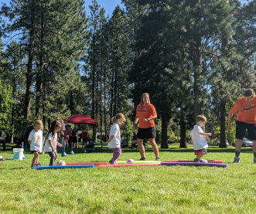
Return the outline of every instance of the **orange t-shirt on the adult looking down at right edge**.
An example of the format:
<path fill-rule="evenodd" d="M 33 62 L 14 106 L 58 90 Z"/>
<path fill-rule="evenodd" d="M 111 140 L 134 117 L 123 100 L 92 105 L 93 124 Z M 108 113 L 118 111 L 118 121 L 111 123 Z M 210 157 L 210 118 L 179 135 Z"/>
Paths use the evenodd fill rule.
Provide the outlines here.
<path fill-rule="evenodd" d="M 232 114 L 237 114 L 237 121 L 241 121 L 247 124 L 256 124 L 256 96 L 247 103 L 244 97 L 238 99 L 234 106 L 231 107 Z"/>

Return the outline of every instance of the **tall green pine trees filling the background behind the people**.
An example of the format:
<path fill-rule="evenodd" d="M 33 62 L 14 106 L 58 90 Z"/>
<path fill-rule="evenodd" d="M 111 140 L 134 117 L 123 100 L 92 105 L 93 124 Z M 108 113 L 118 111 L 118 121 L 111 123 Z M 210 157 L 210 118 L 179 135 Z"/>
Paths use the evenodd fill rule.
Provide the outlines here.
<path fill-rule="evenodd" d="M 84 114 L 108 131 L 125 114 L 124 135 L 142 93 L 158 119 L 157 143 L 185 148 L 195 116 L 226 133 L 227 114 L 255 88 L 256 1 L 122 0 L 110 17 L 94 0 L 12 0 L 1 8 L 0 129 L 19 136 L 35 119 Z M 80 125 L 96 135 L 96 127 Z"/>

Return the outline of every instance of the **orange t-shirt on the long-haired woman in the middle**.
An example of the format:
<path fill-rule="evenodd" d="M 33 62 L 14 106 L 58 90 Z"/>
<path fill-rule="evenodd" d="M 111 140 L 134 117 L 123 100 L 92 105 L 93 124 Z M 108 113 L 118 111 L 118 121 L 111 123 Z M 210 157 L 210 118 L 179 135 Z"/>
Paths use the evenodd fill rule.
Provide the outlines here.
<path fill-rule="evenodd" d="M 152 104 L 145 104 L 144 106 L 142 106 L 142 104 L 139 104 L 136 109 L 136 114 L 138 115 L 139 120 L 138 127 L 147 128 L 155 126 L 155 122 L 153 120 L 142 122 L 144 118 L 148 119 L 149 117 L 152 117 L 156 114 L 155 107 Z"/>

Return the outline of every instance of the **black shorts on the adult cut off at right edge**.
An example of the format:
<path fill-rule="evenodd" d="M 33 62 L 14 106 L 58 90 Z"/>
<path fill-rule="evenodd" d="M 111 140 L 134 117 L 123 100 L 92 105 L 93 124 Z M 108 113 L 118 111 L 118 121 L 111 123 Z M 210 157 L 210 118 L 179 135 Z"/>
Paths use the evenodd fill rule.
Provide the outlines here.
<path fill-rule="evenodd" d="M 256 124 L 247 124 L 241 121 L 236 121 L 236 138 L 243 140 L 244 133 L 247 129 L 248 131 L 248 138 L 250 141 L 256 140 Z"/>

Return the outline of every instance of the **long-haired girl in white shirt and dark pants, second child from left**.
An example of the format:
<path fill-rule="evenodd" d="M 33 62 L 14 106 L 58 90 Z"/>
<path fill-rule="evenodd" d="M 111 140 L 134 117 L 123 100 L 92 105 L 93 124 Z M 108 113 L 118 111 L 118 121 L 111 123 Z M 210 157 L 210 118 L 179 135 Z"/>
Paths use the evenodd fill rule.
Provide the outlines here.
<path fill-rule="evenodd" d="M 54 161 L 56 161 L 56 158 L 58 158 L 58 154 L 56 151 L 56 145 L 62 147 L 62 144 L 58 142 L 58 138 L 60 138 L 60 128 L 61 124 L 58 121 L 53 121 L 53 124 L 51 125 L 48 134 L 46 135 L 46 145 L 44 148 L 44 151 L 49 154 L 49 157 L 51 158 L 49 161 L 49 165 L 53 165 Z"/>

